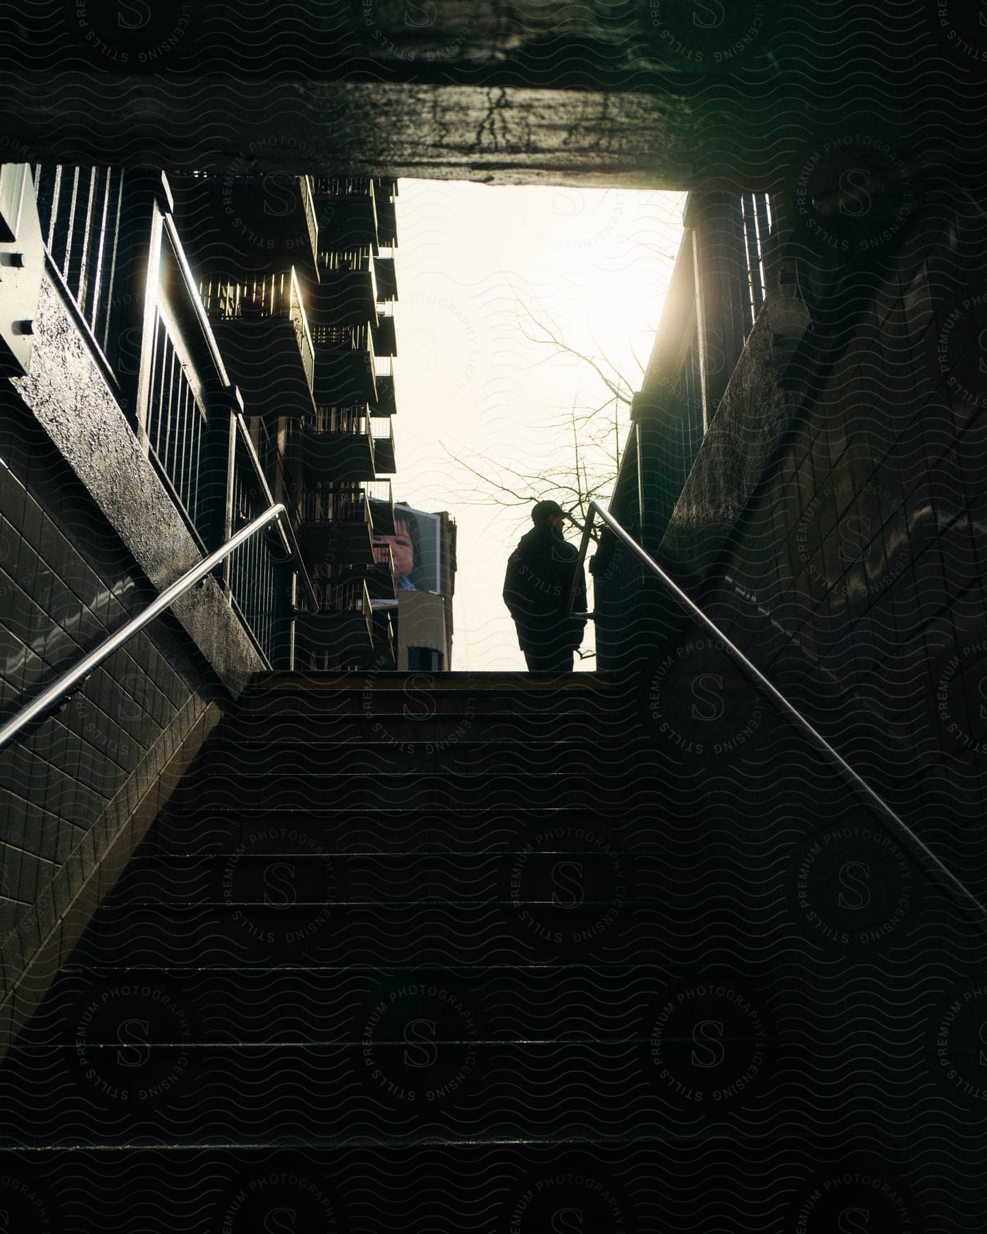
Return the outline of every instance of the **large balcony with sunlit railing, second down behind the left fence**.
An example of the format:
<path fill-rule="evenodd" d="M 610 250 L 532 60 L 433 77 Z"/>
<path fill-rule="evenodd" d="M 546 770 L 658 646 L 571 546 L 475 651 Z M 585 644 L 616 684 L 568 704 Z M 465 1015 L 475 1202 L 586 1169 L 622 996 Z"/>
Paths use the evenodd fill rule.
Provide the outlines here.
<path fill-rule="evenodd" d="M 315 350 L 295 270 L 253 283 L 206 283 L 200 296 L 247 415 L 310 411 Z"/>

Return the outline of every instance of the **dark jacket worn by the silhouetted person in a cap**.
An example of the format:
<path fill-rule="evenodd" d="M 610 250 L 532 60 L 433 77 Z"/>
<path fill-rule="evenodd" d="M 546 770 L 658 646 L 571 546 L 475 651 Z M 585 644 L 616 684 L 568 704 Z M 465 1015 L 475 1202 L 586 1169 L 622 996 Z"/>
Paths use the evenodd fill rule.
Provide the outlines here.
<path fill-rule="evenodd" d="M 549 633 L 558 633 L 565 647 L 582 642 L 585 619 L 565 616 L 569 591 L 576 574 L 579 550 L 551 523 L 533 527 L 507 559 L 503 602 L 517 624 L 518 643 L 533 649 Z M 586 576 L 580 568 L 574 612 L 586 612 Z"/>

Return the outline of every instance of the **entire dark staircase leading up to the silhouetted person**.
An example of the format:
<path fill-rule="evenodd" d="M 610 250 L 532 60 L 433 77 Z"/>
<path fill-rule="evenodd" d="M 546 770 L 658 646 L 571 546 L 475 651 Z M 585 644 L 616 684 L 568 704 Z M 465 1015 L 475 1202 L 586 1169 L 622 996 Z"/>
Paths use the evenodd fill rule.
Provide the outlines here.
<path fill-rule="evenodd" d="M 9 1228 L 838 1228 L 791 1182 L 843 1146 L 832 963 L 640 713 L 598 673 L 257 679 L 0 1070 Z"/>

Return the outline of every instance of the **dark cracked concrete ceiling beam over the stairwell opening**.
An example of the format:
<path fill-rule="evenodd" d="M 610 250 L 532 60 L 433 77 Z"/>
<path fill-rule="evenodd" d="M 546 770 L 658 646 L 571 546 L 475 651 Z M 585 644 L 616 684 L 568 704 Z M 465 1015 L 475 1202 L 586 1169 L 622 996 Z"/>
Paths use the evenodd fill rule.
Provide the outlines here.
<path fill-rule="evenodd" d="M 968 0 L 25 5 L 0 16 L 0 158 L 777 189 L 850 139 L 976 188 L 980 19 Z"/>

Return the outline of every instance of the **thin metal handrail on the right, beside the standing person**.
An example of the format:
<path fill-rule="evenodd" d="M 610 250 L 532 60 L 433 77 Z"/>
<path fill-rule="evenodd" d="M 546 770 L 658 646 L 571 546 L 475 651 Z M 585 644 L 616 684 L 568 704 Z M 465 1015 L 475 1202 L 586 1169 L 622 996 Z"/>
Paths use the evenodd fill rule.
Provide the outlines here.
<path fill-rule="evenodd" d="M 977 900 L 973 892 L 962 884 L 956 875 L 946 866 L 931 849 L 912 830 L 908 823 L 904 822 L 888 803 L 880 797 L 873 789 L 862 779 L 862 776 L 855 771 L 846 759 L 843 758 L 823 737 L 823 734 L 812 724 L 808 719 L 799 712 L 788 700 L 777 690 L 761 673 L 756 664 L 753 664 L 746 655 L 737 647 L 730 639 L 723 633 L 723 631 L 711 621 L 709 617 L 690 600 L 690 597 L 682 591 L 677 582 L 675 582 L 669 575 L 661 569 L 661 566 L 655 561 L 655 559 L 642 548 L 640 544 L 617 522 L 613 515 L 605 510 L 598 501 L 591 501 L 587 513 L 586 523 L 582 528 L 582 539 L 580 542 L 579 549 L 579 563 L 576 566 L 576 579 L 579 579 L 580 571 L 582 569 L 584 561 L 586 560 L 586 549 L 588 548 L 590 536 L 592 533 L 593 518 L 600 516 L 602 522 L 613 532 L 613 534 L 624 544 L 634 557 L 638 558 L 651 574 L 655 575 L 661 582 L 665 584 L 667 590 L 679 601 L 679 603 L 695 617 L 701 626 L 703 626 L 711 634 L 713 634 L 718 642 L 723 644 L 724 650 L 740 665 L 748 676 L 753 677 L 758 685 L 769 695 L 769 697 L 788 716 L 796 722 L 796 724 L 816 742 L 818 748 L 836 764 L 836 766 L 844 772 L 849 779 L 850 784 L 855 791 L 864 798 L 864 801 L 872 806 L 883 824 L 890 829 L 892 838 L 902 843 L 907 848 L 917 863 L 917 865 L 924 870 L 925 874 L 930 875 L 933 879 L 940 881 L 946 891 L 949 891 L 957 902 L 972 912 L 975 918 L 978 921 L 981 927 L 987 926 L 987 908 Z M 575 581 L 572 585 L 572 591 L 569 597 L 569 610 L 572 608 L 572 600 L 575 596 Z"/>

